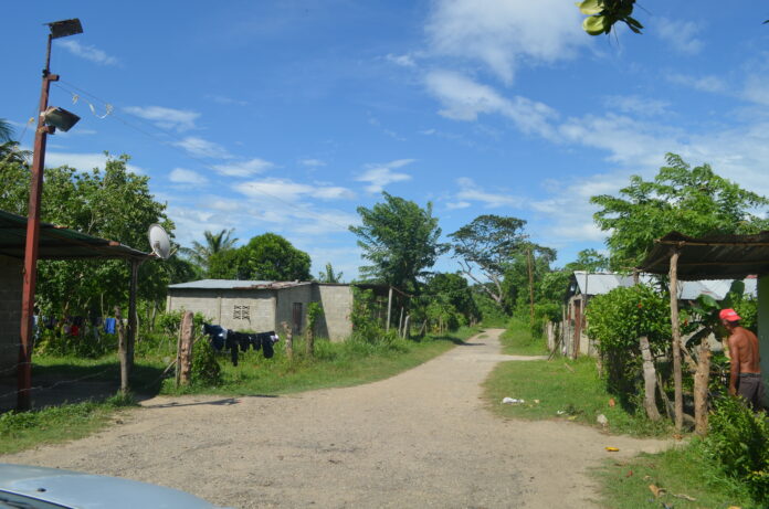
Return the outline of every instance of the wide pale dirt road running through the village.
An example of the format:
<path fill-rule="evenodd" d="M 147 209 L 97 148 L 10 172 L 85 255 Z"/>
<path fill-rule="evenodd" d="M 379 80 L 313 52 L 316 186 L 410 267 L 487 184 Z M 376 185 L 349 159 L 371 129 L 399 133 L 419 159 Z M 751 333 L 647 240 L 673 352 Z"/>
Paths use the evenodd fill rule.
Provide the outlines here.
<path fill-rule="evenodd" d="M 562 422 L 504 421 L 480 384 L 492 329 L 388 380 L 281 397 L 157 397 L 109 430 L 0 457 L 151 481 L 212 502 L 317 508 L 594 507 L 586 468 L 659 450 Z"/>

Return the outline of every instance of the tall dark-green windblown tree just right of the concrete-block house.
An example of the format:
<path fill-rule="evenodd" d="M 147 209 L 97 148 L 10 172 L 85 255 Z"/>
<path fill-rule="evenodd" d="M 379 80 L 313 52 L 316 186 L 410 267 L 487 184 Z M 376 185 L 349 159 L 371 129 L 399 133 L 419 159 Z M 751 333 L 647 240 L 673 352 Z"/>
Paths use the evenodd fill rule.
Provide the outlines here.
<path fill-rule="evenodd" d="M 364 258 L 372 263 L 361 267 L 361 275 L 404 291 L 418 291 L 419 279 L 447 251 L 439 242 L 438 218 L 432 215 L 432 203 L 422 209 L 387 192 L 382 197 L 384 202 L 371 209 L 359 206 L 362 225 L 350 226 Z"/>

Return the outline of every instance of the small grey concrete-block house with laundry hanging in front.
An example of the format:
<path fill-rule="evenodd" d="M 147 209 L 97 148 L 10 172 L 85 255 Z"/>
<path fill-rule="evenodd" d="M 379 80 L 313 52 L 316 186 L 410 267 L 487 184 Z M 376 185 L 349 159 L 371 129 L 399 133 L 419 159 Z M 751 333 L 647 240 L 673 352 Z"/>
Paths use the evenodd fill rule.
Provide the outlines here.
<path fill-rule="evenodd" d="M 285 321 L 298 335 L 305 331 L 310 303 L 319 303 L 324 311 L 316 325 L 318 337 L 341 341 L 350 336 L 352 287 L 347 284 L 202 279 L 170 285 L 166 309 L 200 312 L 239 331 L 281 331 Z"/>

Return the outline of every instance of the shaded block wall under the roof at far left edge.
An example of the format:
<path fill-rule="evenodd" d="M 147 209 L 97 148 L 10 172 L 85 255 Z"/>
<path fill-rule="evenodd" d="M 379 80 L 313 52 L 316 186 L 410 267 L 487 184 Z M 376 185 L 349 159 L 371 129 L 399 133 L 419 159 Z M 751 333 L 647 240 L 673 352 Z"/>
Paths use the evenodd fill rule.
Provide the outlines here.
<path fill-rule="evenodd" d="M 15 377 L 12 368 L 19 360 L 22 267 L 21 261 L 0 256 L 0 378 Z"/>

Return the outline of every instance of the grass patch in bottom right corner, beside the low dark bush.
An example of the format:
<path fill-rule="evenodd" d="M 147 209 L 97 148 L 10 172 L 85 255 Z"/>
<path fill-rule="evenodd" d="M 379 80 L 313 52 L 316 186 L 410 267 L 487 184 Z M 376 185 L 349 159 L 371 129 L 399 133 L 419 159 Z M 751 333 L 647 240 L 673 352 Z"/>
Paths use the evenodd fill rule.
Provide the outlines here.
<path fill-rule="evenodd" d="M 601 481 L 607 508 L 760 508 L 745 485 L 725 477 L 705 457 L 696 441 L 626 462 L 607 462 L 594 475 Z M 655 497 L 650 486 L 664 491 Z"/>

